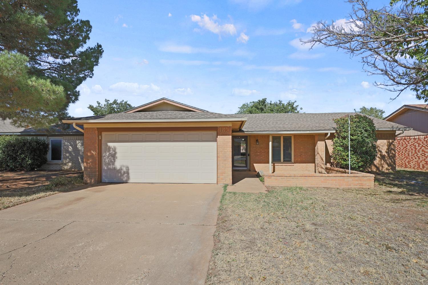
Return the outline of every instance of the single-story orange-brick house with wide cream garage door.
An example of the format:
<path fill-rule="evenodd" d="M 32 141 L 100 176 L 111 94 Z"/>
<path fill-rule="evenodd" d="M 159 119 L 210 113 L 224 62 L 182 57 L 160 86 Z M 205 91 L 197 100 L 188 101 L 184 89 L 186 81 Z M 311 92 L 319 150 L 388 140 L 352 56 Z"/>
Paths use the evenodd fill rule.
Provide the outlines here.
<path fill-rule="evenodd" d="M 354 113 L 351 113 L 354 114 Z M 123 113 L 63 120 L 84 126 L 84 180 L 231 184 L 263 170 L 265 184 L 372 187 L 373 175 L 329 166 L 333 119 L 348 113 L 220 114 L 166 98 Z M 395 170 L 394 122 L 374 119 L 375 170 Z"/>

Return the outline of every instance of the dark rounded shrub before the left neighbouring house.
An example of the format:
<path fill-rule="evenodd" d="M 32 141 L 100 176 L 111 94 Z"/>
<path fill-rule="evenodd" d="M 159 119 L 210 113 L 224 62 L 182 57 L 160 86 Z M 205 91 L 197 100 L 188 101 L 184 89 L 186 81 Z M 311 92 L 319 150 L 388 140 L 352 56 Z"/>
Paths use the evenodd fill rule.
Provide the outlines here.
<path fill-rule="evenodd" d="M 0 170 L 38 169 L 48 161 L 48 150 L 39 138 L 0 136 Z"/>

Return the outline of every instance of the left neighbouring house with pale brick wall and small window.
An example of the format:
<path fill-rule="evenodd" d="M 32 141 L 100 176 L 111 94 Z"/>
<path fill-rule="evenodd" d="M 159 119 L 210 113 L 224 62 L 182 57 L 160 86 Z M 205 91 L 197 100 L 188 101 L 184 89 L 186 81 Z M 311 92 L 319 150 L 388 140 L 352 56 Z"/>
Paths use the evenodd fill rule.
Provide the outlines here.
<path fill-rule="evenodd" d="M 80 126 L 83 128 L 83 126 Z M 48 130 L 18 128 L 10 120 L 0 120 L 0 135 L 37 137 L 49 143 L 48 162 L 44 170 L 82 170 L 83 133 L 72 125 L 54 125 Z"/>

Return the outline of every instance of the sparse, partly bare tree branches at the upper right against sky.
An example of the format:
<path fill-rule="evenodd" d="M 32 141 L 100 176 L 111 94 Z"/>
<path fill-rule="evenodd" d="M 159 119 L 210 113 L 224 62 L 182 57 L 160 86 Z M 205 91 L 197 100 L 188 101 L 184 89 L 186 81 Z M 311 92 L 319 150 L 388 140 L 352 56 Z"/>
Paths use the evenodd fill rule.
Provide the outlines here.
<path fill-rule="evenodd" d="M 395 98 L 410 89 L 428 102 L 428 0 L 391 0 L 377 10 L 364 0 L 348 2 L 353 6 L 347 23 L 320 21 L 303 42 L 361 56 L 366 72 L 384 77 L 378 87 L 398 92 Z"/>

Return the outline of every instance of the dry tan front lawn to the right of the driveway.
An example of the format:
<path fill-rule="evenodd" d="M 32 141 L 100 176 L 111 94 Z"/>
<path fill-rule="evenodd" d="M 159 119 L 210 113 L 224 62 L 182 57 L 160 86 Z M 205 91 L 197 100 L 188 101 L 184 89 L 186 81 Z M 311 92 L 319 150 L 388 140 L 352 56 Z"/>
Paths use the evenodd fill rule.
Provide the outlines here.
<path fill-rule="evenodd" d="M 408 185 L 426 177 L 380 175 L 371 190 L 227 192 L 206 284 L 426 284 L 428 207 Z"/>

